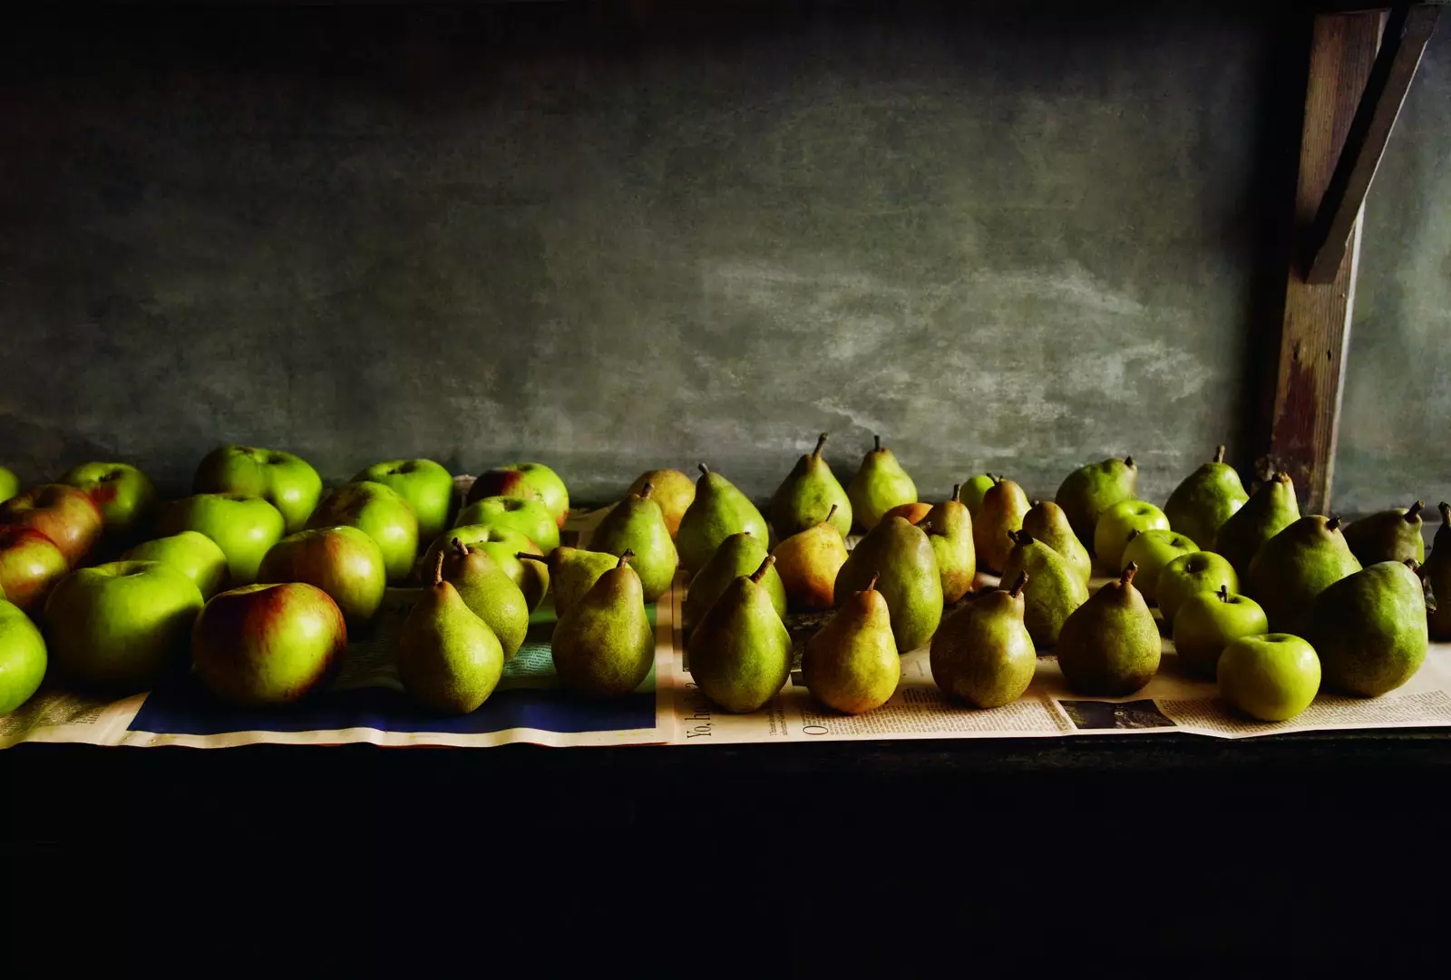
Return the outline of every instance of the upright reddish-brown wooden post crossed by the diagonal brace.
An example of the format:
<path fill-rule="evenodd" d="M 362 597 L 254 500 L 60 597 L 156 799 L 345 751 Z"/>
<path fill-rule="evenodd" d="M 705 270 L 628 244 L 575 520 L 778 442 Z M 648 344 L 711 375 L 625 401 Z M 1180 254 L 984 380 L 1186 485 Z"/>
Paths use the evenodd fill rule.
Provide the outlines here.
<path fill-rule="evenodd" d="M 1380 30 L 1380 13 L 1319 14 L 1313 20 L 1294 197 L 1296 239 L 1315 222 L 1325 197 L 1376 61 Z M 1306 283 L 1293 258 L 1286 277 L 1270 451 L 1258 468 L 1288 473 L 1306 513 L 1323 513 L 1331 502 L 1358 258 L 1357 220 L 1329 283 Z"/>

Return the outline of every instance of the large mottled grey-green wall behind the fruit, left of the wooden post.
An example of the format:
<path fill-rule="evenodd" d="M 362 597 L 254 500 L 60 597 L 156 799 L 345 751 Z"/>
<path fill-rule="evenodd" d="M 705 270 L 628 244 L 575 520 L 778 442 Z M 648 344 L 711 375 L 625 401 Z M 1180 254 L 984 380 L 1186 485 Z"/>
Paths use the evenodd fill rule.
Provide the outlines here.
<path fill-rule="evenodd" d="M 1164 497 L 1239 438 L 1264 20 L 820 16 L 505 57 L 267 16 L 302 26 L 17 39 L 0 455 L 28 478 L 118 457 L 177 487 L 248 441 L 334 480 L 538 458 L 583 500 L 705 460 L 763 496 L 826 429 L 843 481 L 881 432 L 924 496 L 1132 452 Z M 1410 142 L 1387 184 L 1436 168 Z M 1373 268 L 1434 275 L 1376 220 Z M 1365 287 L 1392 331 L 1352 394 L 1447 326 L 1418 303 Z"/>

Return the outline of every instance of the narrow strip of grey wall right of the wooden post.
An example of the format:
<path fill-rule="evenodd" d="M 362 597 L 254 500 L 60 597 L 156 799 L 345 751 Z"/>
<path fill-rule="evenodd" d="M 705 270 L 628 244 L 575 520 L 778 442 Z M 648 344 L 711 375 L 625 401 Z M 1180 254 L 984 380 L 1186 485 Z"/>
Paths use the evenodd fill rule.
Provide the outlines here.
<path fill-rule="evenodd" d="M 1451 500 L 1451 26 L 1365 202 L 1335 507 Z"/>

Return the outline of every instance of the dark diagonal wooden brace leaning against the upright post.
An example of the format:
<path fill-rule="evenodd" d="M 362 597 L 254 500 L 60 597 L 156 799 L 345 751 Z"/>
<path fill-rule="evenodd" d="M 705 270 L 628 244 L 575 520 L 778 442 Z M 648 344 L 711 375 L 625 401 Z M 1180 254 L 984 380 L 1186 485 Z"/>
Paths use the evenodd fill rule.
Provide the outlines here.
<path fill-rule="evenodd" d="M 1303 261 L 1307 268 L 1306 280 L 1310 283 L 1333 280 L 1345 258 L 1351 228 L 1365 204 L 1376 168 L 1380 167 L 1400 106 L 1410 91 L 1416 67 L 1421 65 L 1439 16 L 1439 7 L 1402 4 L 1386 23 L 1380 54 L 1306 236 Z"/>

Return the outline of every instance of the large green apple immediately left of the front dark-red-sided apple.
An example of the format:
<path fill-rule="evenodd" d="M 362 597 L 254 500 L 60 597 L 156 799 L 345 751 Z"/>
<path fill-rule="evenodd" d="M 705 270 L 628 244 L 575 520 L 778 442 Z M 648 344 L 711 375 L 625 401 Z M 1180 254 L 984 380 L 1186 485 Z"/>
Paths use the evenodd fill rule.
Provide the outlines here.
<path fill-rule="evenodd" d="M 186 652 L 196 583 L 160 561 L 113 561 L 61 578 L 45 600 L 51 657 L 87 684 L 136 689 Z"/>

